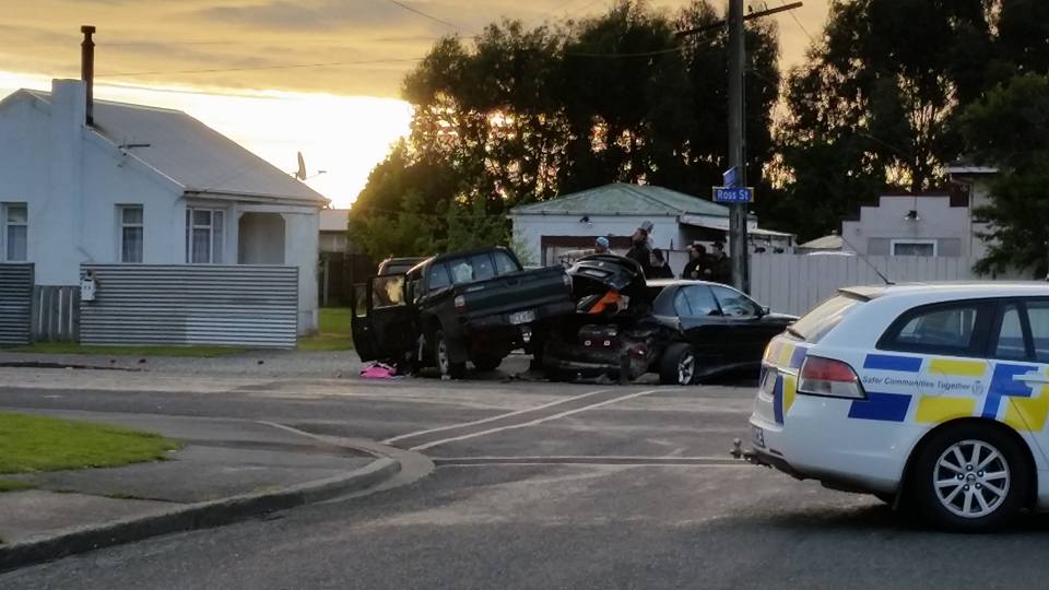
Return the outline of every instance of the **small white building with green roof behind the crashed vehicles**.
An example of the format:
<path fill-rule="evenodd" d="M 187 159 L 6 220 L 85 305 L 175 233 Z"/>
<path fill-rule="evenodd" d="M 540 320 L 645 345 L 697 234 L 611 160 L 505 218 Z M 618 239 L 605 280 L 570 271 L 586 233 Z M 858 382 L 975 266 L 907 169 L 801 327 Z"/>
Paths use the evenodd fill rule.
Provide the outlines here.
<path fill-rule="evenodd" d="M 729 208 L 662 187 L 612 184 L 510 210 L 516 246 L 526 263 L 553 264 L 566 251 L 591 248 L 598 236 L 609 236 L 613 250 L 629 248 L 629 238 L 643 222 L 652 223 L 655 248 L 676 251 L 672 268 L 684 263 L 683 251 L 694 241 L 728 241 Z M 747 222 L 751 249 L 789 250 L 793 236 Z M 729 244 L 729 249 L 731 249 Z"/>

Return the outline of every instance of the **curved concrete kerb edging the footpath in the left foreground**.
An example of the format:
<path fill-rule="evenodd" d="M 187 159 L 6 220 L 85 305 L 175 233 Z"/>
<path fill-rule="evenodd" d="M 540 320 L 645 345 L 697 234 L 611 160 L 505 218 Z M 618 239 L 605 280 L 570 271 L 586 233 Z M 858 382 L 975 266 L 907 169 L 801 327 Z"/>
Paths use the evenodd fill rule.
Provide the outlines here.
<path fill-rule="evenodd" d="M 379 457 L 345 475 L 306 482 L 273 492 L 188 504 L 141 517 L 70 528 L 39 539 L 3 544 L 0 545 L 0 571 L 150 536 L 228 524 L 276 510 L 362 492 L 384 483 L 400 471 L 400 461 Z"/>

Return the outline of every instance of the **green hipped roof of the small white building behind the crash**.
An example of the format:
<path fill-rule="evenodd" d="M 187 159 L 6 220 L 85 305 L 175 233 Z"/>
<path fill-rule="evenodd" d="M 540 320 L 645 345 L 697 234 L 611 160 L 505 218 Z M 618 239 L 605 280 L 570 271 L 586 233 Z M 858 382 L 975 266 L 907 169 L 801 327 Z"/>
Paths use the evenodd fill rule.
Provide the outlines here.
<path fill-rule="evenodd" d="M 514 215 L 668 215 L 728 217 L 729 208 L 683 192 L 614 182 L 510 210 Z"/>

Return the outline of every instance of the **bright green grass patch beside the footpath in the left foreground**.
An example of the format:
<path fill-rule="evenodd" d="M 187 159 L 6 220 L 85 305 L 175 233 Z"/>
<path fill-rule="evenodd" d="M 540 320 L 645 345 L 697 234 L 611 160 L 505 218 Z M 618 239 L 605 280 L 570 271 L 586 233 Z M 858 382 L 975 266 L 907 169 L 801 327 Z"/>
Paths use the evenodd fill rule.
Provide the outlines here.
<path fill-rule="evenodd" d="M 0 414 L 0 474 L 156 461 L 177 448 L 174 440 L 118 426 Z"/>

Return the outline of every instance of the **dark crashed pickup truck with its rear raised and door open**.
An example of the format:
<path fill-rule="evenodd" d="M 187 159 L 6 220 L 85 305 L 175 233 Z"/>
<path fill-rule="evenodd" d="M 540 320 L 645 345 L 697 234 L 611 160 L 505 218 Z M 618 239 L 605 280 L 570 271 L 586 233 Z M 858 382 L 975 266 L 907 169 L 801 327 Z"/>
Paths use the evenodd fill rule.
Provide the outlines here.
<path fill-rule="evenodd" d="M 428 258 L 405 273 L 374 276 L 353 312 L 362 361 L 402 371 L 436 367 L 461 378 L 467 363 L 492 370 L 528 349 L 544 320 L 570 315 L 571 279 L 561 267 L 524 270 L 506 248 Z M 363 299 L 363 300 L 362 300 Z"/>

